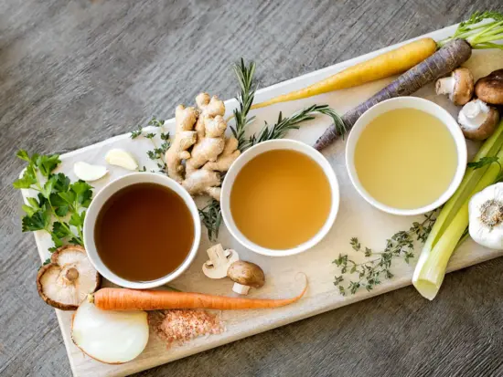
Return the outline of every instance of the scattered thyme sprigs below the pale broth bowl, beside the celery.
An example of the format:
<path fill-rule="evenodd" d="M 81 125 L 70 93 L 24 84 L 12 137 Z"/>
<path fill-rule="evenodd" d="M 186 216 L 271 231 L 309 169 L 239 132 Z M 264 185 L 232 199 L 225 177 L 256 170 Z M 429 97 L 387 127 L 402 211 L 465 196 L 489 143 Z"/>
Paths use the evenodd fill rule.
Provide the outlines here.
<path fill-rule="evenodd" d="M 354 295 L 359 288 L 366 288 L 368 291 L 381 283 L 382 279 L 393 278 L 391 273 L 391 264 L 393 258 L 403 257 L 406 263 L 414 257 L 414 242 L 424 243 L 432 231 L 436 220 L 436 211 L 427 215 L 422 223 L 414 222 L 408 231 L 400 231 L 386 240 L 384 250 L 376 252 L 369 247 L 362 247 L 359 239 L 354 237 L 350 240 L 353 250 L 364 253 L 365 257 L 375 257 L 363 263 L 356 263 L 349 259 L 348 255 L 337 257 L 332 263 L 340 268 L 340 275 L 335 277 L 334 285 L 339 293 L 346 296 L 348 293 Z M 356 275 L 355 280 L 349 279 L 346 282 L 346 276 Z"/>

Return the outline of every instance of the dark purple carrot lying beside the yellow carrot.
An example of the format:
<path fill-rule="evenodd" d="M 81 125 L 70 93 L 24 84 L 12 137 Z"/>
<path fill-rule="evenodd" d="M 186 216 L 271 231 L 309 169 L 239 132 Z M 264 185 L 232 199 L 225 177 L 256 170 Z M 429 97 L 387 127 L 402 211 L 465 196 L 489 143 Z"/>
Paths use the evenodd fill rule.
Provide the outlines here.
<path fill-rule="evenodd" d="M 470 58 L 472 47 L 465 39 L 455 39 L 444 47 L 436 51 L 430 58 L 426 58 L 417 66 L 409 69 L 398 79 L 395 79 L 386 88 L 380 90 L 365 102 L 359 104 L 355 109 L 349 110 L 342 116 L 342 120 L 349 130 L 359 117 L 372 106 L 385 99 L 394 97 L 409 96 L 413 92 L 422 88 L 435 79 L 440 79 L 446 74 L 455 70 Z M 314 147 L 321 151 L 329 144 L 336 141 L 340 134 L 334 124 L 330 125 L 321 137 L 316 141 Z"/>

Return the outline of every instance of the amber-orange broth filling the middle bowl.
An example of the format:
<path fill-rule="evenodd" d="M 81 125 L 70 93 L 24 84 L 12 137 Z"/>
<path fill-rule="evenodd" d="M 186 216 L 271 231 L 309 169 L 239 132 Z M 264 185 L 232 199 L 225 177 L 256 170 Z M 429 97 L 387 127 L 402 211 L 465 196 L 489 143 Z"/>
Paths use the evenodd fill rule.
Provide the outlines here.
<path fill-rule="evenodd" d="M 230 212 L 241 233 L 270 249 L 288 249 L 311 239 L 326 223 L 331 205 L 322 168 L 291 150 L 253 158 L 230 191 Z"/>

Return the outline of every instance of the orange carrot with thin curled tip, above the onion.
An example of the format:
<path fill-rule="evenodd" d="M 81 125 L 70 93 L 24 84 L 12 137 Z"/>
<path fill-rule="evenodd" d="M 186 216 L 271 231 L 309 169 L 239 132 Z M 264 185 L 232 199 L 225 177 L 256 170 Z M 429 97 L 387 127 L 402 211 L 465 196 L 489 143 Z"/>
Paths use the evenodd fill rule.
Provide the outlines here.
<path fill-rule="evenodd" d="M 102 288 L 91 295 L 91 302 L 102 310 L 160 310 L 160 309 L 273 309 L 298 301 L 294 298 L 230 298 L 202 293 L 171 292 L 166 290 L 135 290 L 127 288 Z"/>

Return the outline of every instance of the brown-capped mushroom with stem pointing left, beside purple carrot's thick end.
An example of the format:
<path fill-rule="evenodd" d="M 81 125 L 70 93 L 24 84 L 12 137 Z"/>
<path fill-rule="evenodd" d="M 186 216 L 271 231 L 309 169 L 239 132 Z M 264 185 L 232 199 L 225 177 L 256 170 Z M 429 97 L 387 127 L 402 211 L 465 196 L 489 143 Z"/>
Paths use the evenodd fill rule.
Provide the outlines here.
<path fill-rule="evenodd" d="M 448 94 L 455 105 L 465 105 L 474 94 L 474 77 L 468 68 L 457 68 L 451 76 L 438 79 L 436 94 Z"/>

